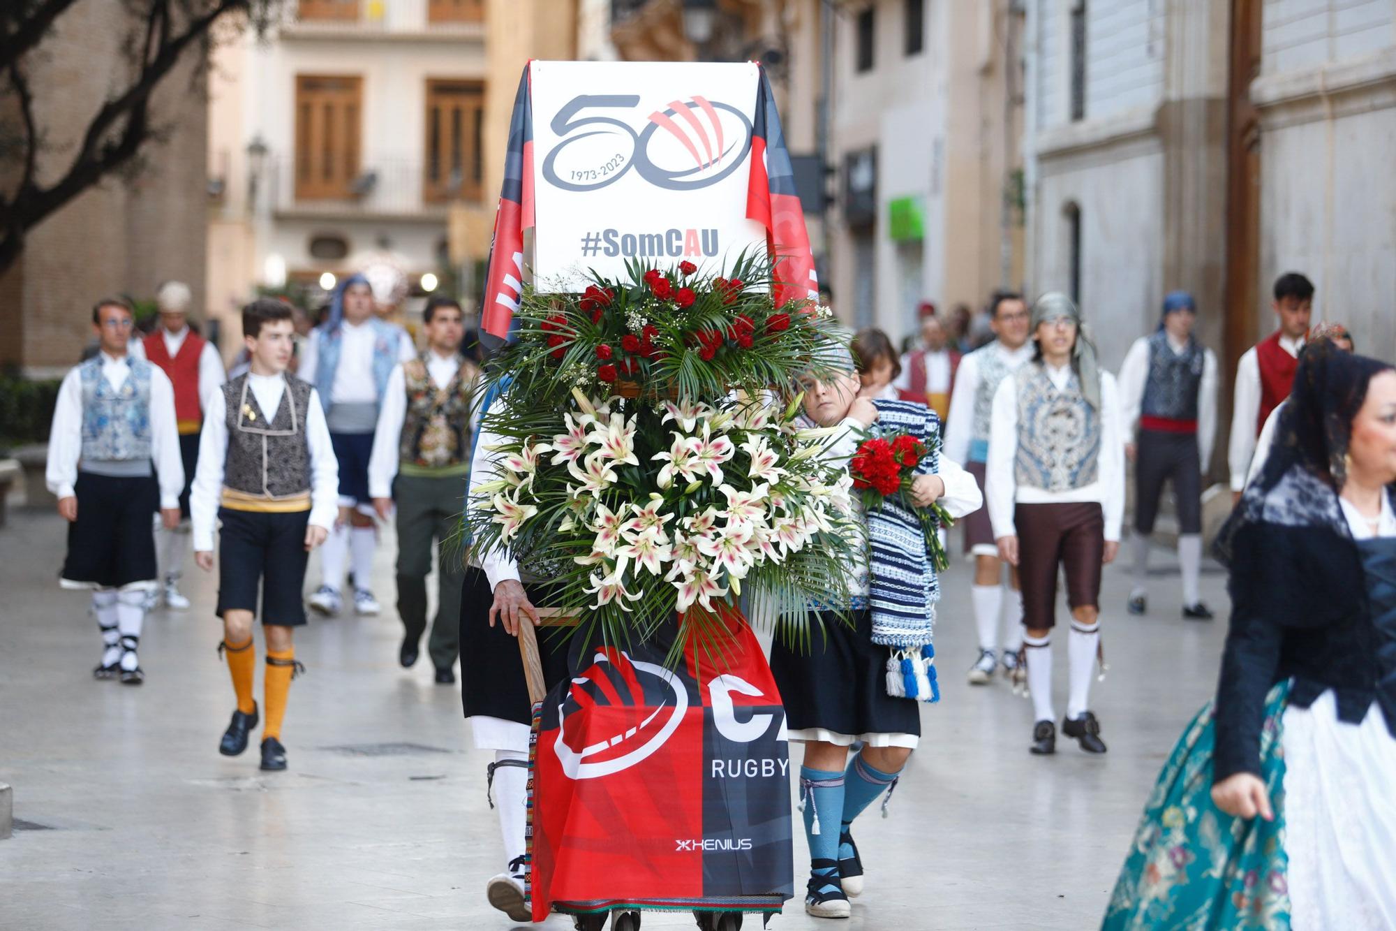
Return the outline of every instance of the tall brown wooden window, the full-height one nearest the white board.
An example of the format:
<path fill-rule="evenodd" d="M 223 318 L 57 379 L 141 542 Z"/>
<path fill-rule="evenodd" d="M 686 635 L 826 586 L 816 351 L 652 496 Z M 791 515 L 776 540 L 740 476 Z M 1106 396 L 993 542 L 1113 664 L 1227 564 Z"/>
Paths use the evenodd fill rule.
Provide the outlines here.
<path fill-rule="evenodd" d="M 424 200 L 480 200 L 483 130 L 484 84 L 427 81 Z"/>

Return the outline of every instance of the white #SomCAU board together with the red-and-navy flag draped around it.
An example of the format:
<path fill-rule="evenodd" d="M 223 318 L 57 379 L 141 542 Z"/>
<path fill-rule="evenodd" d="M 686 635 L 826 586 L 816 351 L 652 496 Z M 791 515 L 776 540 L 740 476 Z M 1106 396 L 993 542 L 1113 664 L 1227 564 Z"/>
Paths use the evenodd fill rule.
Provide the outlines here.
<path fill-rule="evenodd" d="M 537 117 L 535 120 L 535 116 Z M 755 63 L 530 62 L 510 122 L 482 324 L 504 337 L 535 229 L 536 287 L 582 291 L 628 261 L 720 275 L 775 261 L 775 301 L 815 296 L 771 82 Z"/>

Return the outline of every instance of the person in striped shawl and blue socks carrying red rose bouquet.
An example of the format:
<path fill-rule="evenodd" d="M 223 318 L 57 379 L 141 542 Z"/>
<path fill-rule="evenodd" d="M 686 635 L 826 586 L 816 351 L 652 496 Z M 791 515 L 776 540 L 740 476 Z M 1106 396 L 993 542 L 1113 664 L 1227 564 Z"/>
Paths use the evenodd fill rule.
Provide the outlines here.
<path fill-rule="evenodd" d="M 846 467 L 861 499 L 866 548 L 856 549 L 849 601 L 824 604 L 822 630 L 808 649 L 776 642 L 771 670 L 785 700 L 792 741 L 804 744 L 800 795 L 810 842 L 804 909 L 846 918 L 863 890 L 863 864 L 850 825 L 892 790 L 920 739 L 917 700 L 940 698 L 931 630 L 940 598 L 942 517 L 980 507 L 974 478 L 940 454 L 934 411 L 910 401 L 859 396 L 843 352 L 828 377 L 804 379 L 804 414 L 835 428 L 821 452 Z M 839 614 L 849 609 L 852 623 Z M 849 746 L 863 742 L 852 760 Z M 884 804 L 884 812 L 886 801 Z"/>

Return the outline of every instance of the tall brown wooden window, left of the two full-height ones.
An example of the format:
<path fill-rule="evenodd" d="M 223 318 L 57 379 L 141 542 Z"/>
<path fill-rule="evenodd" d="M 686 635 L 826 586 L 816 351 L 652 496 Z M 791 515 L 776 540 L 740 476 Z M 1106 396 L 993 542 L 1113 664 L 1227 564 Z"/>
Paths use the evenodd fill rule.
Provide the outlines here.
<path fill-rule="evenodd" d="M 349 197 L 359 175 L 363 78 L 296 75 L 296 199 Z"/>

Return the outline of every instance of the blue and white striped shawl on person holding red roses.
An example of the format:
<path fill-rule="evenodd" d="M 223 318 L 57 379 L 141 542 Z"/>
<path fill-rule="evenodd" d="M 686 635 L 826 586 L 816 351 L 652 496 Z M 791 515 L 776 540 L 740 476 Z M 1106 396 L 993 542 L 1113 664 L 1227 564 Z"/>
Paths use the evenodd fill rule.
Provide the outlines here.
<path fill-rule="evenodd" d="M 872 435 L 910 433 L 926 445 L 919 475 L 941 468 L 941 421 L 935 411 L 910 401 L 874 401 L 878 421 Z M 923 647 L 935 628 L 941 583 L 926 552 L 921 520 L 895 499 L 868 510 L 868 605 L 872 643 L 896 650 Z"/>

